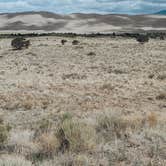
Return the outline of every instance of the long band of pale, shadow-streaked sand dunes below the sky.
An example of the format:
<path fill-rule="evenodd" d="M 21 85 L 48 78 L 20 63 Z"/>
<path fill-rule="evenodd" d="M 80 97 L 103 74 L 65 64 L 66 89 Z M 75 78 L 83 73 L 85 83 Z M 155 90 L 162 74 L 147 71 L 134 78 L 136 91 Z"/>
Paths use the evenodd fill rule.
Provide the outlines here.
<path fill-rule="evenodd" d="M 58 15 L 50 12 L 0 14 L 0 32 L 127 32 L 166 31 L 166 16 L 162 15 Z"/>

